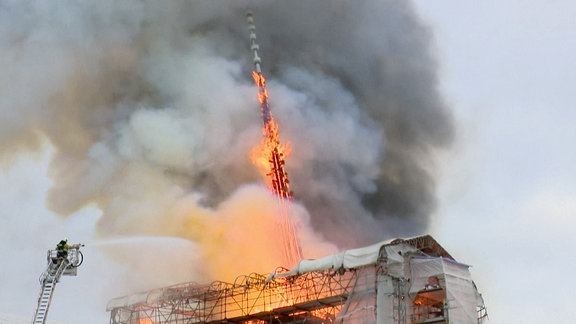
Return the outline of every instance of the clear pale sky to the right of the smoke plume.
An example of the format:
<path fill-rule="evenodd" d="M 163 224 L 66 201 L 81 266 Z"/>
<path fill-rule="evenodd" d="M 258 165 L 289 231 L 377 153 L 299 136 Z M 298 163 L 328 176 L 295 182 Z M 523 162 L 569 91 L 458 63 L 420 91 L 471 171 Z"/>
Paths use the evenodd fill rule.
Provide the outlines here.
<path fill-rule="evenodd" d="M 458 119 L 431 233 L 493 323 L 569 323 L 576 254 L 576 6 L 416 1 Z"/>

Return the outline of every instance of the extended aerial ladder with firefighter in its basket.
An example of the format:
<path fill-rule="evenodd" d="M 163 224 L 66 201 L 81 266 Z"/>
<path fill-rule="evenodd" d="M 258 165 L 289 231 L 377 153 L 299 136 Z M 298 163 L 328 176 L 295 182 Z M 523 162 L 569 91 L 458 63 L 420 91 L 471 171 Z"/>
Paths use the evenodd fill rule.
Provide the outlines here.
<path fill-rule="evenodd" d="M 64 249 L 48 250 L 46 270 L 40 275 L 40 296 L 34 314 L 33 324 L 46 323 L 48 308 L 52 301 L 56 283 L 62 276 L 76 276 L 84 257 L 80 247 L 84 244 L 65 244 Z"/>

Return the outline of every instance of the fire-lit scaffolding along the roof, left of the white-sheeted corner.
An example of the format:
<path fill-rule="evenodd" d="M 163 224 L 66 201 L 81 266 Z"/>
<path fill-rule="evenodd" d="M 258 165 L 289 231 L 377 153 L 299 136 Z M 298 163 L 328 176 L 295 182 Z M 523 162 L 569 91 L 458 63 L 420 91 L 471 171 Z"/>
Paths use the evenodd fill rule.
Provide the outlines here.
<path fill-rule="evenodd" d="M 283 273 L 278 269 L 276 273 Z M 310 272 L 269 279 L 260 274 L 234 283 L 186 283 L 152 290 L 131 305 L 116 307 L 111 323 L 296 323 L 335 318 L 355 281 L 355 272 Z M 268 279 L 268 280 L 267 280 Z M 138 300 L 138 298 L 141 298 Z"/>

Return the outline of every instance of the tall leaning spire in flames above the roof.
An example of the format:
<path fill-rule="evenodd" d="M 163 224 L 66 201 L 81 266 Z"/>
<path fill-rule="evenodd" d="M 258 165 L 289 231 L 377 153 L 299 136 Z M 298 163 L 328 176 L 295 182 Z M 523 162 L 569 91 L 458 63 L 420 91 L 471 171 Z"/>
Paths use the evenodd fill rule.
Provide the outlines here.
<path fill-rule="evenodd" d="M 278 197 L 281 214 L 280 230 L 284 240 L 283 261 L 287 266 L 293 266 L 302 259 L 302 251 L 298 244 L 294 224 L 289 217 L 288 206 L 286 204 L 286 200 L 292 198 L 293 195 L 292 191 L 290 191 L 288 173 L 284 170 L 284 159 L 289 153 L 290 147 L 280 143 L 278 124 L 270 111 L 266 78 L 262 75 L 262 69 L 260 67 L 260 63 L 262 62 L 260 56 L 258 56 L 260 47 L 256 42 L 256 26 L 254 25 L 254 17 L 251 12 L 246 13 L 246 19 L 250 32 L 250 49 L 254 55 L 254 71 L 252 71 L 252 77 L 258 86 L 258 102 L 260 103 L 260 113 L 263 122 L 263 139 L 252 151 L 251 158 L 254 164 L 265 172 L 270 188 Z"/>

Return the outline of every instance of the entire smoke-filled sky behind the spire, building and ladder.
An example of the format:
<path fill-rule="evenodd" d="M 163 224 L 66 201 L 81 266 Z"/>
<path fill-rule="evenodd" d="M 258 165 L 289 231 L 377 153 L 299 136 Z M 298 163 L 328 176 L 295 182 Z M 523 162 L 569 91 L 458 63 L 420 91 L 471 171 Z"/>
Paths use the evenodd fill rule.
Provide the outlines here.
<path fill-rule="evenodd" d="M 276 203 L 248 156 L 261 121 L 247 6 L 0 1 L 0 256 L 11 260 L 0 313 L 31 316 L 45 251 L 64 236 L 86 244 L 86 261 L 57 287 L 50 318 L 63 323 L 105 322 L 107 300 L 136 290 L 279 265 Z M 543 213 L 568 236 L 574 213 L 573 102 L 562 99 L 574 66 L 555 66 L 574 52 L 568 11 L 249 7 L 292 147 L 304 256 L 432 231 L 476 265 L 494 320 L 516 322 L 525 306 L 513 294 L 526 291 L 506 287 L 530 285 L 508 271 L 544 288 L 526 273 L 549 268 L 528 271 L 524 256 L 560 254 L 529 237 L 562 240 L 531 231 Z M 538 318 L 527 313 L 521 322 Z"/>

